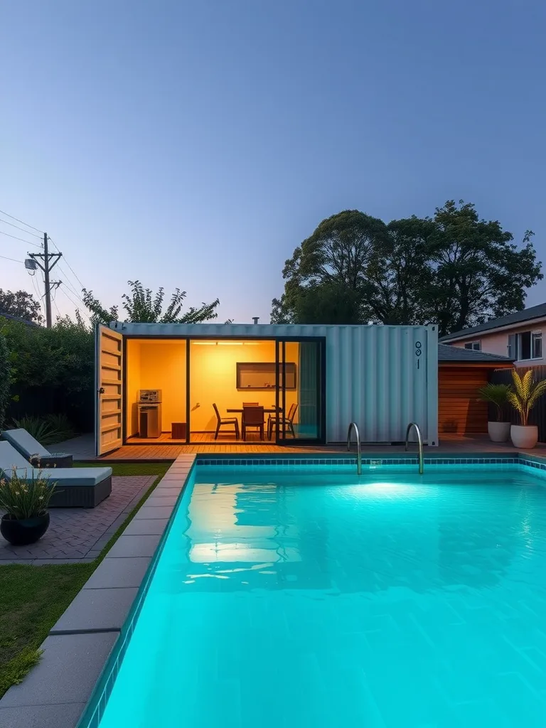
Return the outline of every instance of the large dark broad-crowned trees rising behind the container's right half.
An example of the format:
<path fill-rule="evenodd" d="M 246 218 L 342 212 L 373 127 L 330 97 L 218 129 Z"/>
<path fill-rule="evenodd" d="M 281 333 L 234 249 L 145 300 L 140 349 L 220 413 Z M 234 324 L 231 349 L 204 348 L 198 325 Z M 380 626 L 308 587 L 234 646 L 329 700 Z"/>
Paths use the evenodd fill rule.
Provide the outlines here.
<path fill-rule="evenodd" d="M 542 279 L 527 231 L 518 248 L 497 221 L 453 201 L 434 218 L 385 225 L 348 210 L 320 223 L 286 261 L 278 323 L 438 323 L 440 335 L 523 308 Z"/>

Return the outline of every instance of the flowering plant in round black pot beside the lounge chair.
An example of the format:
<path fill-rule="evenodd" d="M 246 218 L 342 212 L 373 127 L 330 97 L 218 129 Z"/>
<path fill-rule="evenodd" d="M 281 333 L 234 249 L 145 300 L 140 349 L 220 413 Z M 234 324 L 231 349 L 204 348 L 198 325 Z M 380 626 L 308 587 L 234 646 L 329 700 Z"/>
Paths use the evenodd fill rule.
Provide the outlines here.
<path fill-rule="evenodd" d="M 14 546 L 34 543 L 44 535 L 50 525 L 47 507 L 55 491 L 55 484 L 41 471 L 32 471 L 31 478 L 26 471 L 21 474 L 12 468 L 7 478 L 0 478 L 0 509 L 6 513 L 0 520 L 0 533 Z"/>

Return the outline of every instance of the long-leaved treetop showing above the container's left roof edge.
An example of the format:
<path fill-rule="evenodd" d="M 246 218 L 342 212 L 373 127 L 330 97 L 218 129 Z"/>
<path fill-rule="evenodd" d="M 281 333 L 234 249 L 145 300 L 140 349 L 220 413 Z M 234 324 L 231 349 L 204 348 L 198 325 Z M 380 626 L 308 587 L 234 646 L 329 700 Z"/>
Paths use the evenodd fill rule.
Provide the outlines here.
<path fill-rule="evenodd" d="M 125 321 L 132 323 L 202 323 L 218 317 L 216 312 L 220 304 L 218 298 L 212 304 L 202 304 L 198 308 L 191 306 L 186 313 L 182 314 L 186 291 L 176 288 L 170 298 L 170 303 L 163 312 L 163 299 L 165 298 L 163 288 L 159 288 L 155 296 L 152 296 L 150 288 L 143 288 L 140 281 L 130 280 L 128 284 L 131 289 L 130 293 L 124 293 L 122 296 L 123 307 L 127 312 Z M 92 290 L 83 289 L 83 301 L 92 312 L 92 318 L 99 323 L 107 325 L 111 321 L 118 320 L 118 307 L 111 306 L 110 309 L 105 309 L 93 296 Z"/>

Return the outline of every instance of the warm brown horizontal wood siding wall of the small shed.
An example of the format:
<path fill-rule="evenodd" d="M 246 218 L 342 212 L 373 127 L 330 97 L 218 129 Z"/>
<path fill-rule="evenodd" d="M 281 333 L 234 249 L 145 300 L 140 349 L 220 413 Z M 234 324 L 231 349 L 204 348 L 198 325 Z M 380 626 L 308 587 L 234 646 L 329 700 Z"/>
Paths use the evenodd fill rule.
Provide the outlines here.
<path fill-rule="evenodd" d="M 487 384 L 488 369 L 440 366 L 438 369 L 438 436 L 487 432 L 487 405 L 478 389 Z"/>

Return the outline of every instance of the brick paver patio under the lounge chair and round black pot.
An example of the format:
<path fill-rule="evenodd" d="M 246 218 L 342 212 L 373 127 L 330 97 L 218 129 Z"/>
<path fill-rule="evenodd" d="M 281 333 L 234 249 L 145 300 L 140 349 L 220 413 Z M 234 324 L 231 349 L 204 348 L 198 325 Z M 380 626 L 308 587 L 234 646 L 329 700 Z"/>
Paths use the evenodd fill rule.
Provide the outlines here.
<path fill-rule="evenodd" d="M 0 565 L 92 561 L 156 478 L 117 476 L 110 496 L 96 508 L 52 508 L 50 527 L 35 544 L 12 546 L 0 536 Z"/>

